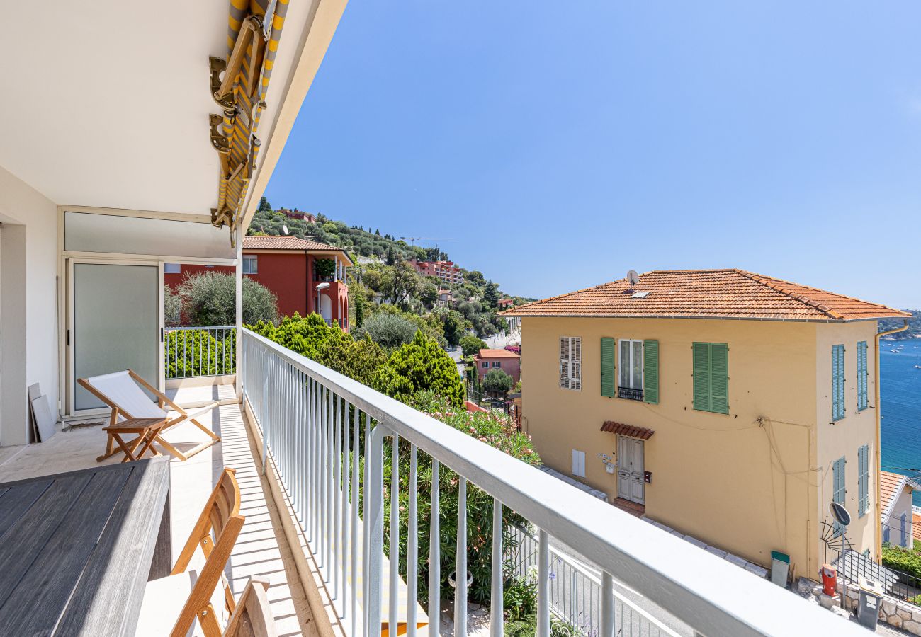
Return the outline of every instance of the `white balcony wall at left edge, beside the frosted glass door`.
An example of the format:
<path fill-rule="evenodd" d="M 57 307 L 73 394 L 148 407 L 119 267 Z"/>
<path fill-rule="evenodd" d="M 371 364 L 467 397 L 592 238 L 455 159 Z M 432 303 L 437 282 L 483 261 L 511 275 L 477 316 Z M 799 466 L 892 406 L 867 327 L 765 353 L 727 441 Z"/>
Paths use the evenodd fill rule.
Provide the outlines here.
<path fill-rule="evenodd" d="M 57 411 L 57 208 L 0 167 L 0 224 L 0 295 L 10 293 L 0 303 L 0 446 L 9 446 L 28 441 L 29 385 Z"/>

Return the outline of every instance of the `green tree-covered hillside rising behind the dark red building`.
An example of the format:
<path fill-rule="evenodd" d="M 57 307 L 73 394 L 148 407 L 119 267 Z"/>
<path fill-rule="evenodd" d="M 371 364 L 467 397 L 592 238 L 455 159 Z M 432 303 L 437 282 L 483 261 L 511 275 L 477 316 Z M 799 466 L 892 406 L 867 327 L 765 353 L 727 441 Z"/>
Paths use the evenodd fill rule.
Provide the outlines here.
<path fill-rule="evenodd" d="M 438 248 L 412 246 L 379 228 L 348 226 L 323 214 L 316 222 L 290 218 L 262 198 L 250 224 L 250 235 L 283 235 L 309 238 L 345 249 L 356 266 L 349 269 L 349 321 L 356 336 L 367 332 L 374 342 L 392 349 L 412 342 L 422 330 L 442 346 L 456 346 L 468 333 L 479 338 L 506 329 L 497 316 L 498 301 L 511 298 L 515 305 L 533 299 L 504 294 L 499 284 L 482 272 L 463 270 L 462 284 L 447 284 L 422 276 L 409 262 L 447 260 Z M 452 300 L 443 301 L 439 291 L 449 290 Z"/>

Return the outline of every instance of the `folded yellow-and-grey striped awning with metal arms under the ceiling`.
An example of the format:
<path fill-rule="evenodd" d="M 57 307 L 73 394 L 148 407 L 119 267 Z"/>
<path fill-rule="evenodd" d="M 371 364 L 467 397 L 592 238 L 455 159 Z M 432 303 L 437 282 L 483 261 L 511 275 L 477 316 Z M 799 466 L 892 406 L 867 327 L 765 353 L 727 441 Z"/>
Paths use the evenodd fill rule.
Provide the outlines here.
<path fill-rule="evenodd" d="M 259 152 L 256 132 L 287 5 L 288 0 L 230 0 L 227 59 L 211 58 L 211 92 L 224 111 L 211 116 L 211 144 L 221 157 L 211 223 L 229 226 L 231 243 Z"/>

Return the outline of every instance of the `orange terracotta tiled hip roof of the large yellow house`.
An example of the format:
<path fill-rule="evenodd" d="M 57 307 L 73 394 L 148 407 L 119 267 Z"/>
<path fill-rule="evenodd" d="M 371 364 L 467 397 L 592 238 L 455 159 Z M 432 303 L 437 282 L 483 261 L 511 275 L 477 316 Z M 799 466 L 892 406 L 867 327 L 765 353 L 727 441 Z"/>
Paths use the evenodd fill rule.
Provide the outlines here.
<path fill-rule="evenodd" d="M 744 270 L 653 271 L 631 290 L 626 279 L 545 298 L 507 317 L 752 318 L 844 321 L 909 318 L 892 307 Z"/>

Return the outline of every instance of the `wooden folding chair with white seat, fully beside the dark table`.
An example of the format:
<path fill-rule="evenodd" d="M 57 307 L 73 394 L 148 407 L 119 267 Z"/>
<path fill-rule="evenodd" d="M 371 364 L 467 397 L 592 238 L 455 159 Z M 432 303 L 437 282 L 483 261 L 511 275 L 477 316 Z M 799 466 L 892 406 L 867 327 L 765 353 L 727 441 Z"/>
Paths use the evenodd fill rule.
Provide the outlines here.
<path fill-rule="evenodd" d="M 184 637 L 195 620 L 204 637 L 221 637 L 222 622 L 218 619 L 216 605 L 227 611 L 221 615 L 231 618 L 237 608 L 224 569 L 246 519 L 239 515 L 239 484 L 234 473 L 234 469 L 224 469 L 172 572 L 148 583 L 138 620 L 138 635 L 162 635 L 169 620 L 176 618 L 169 632 L 171 637 Z M 186 569 L 196 547 L 201 547 L 204 553 L 204 566 L 192 581 Z M 221 584 L 224 591 L 218 602 L 215 597 L 217 586 Z M 176 598 L 177 595 L 185 596 L 184 603 Z M 180 603 L 181 610 L 177 613 Z"/>

